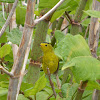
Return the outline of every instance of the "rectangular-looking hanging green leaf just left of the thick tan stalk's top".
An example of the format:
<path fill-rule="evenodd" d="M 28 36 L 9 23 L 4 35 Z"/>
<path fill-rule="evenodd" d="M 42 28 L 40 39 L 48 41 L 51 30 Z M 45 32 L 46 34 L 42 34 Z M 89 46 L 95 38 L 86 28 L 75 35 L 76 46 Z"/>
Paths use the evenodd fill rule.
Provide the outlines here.
<path fill-rule="evenodd" d="M 16 8 L 16 23 L 24 26 L 26 15 L 26 7 L 19 4 Z"/>

